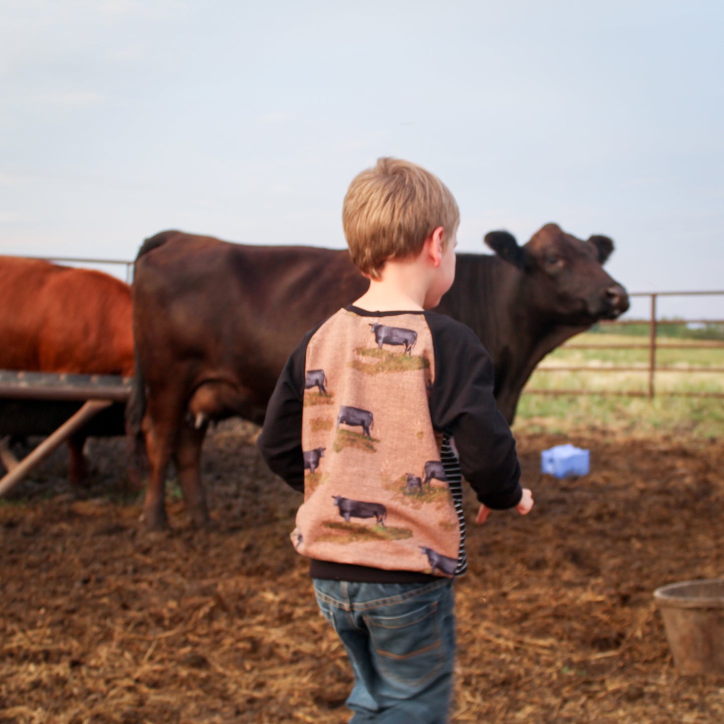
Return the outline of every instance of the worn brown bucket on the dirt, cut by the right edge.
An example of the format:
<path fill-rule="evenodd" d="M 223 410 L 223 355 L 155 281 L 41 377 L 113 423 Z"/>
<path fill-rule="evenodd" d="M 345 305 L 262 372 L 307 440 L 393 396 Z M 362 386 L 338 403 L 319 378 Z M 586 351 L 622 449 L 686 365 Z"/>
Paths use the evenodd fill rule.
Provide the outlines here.
<path fill-rule="evenodd" d="M 683 581 L 654 591 L 676 668 L 724 674 L 724 578 Z"/>

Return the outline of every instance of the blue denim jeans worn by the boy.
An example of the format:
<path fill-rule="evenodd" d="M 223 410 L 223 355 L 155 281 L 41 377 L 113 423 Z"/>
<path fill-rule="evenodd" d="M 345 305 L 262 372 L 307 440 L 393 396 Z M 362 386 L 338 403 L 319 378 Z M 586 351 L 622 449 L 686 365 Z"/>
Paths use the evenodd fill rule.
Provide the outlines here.
<path fill-rule="evenodd" d="M 455 659 L 452 579 L 363 584 L 315 578 L 355 675 L 353 724 L 445 724 Z"/>

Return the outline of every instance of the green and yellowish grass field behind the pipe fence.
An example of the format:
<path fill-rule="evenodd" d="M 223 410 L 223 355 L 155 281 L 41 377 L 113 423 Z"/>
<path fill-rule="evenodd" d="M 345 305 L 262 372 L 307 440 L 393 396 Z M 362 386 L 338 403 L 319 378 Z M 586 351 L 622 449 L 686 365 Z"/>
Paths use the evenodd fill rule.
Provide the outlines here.
<path fill-rule="evenodd" d="M 648 345 L 648 337 L 586 332 L 569 345 Z M 716 342 L 657 337 L 657 366 L 724 368 L 724 347 Z M 665 345 L 691 349 L 666 349 Z M 694 345 L 709 345 L 704 349 Z M 547 371 L 561 366 L 586 367 L 586 371 Z M 641 371 L 610 372 L 626 366 Z M 526 390 L 580 390 L 586 392 L 643 392 L 649 390 L 648 348 L 627 350 L 554 350 L 539 364 Z M 671 393 L 724 393 L 724 372 L 660 371 L 654 377 L 652 400 L 619 395 L 536 395 L 523 390 L 514 429 L 568 432 L 576 427 L 605 427 L 640 432 L 670 432 L 712 438 L 724 434 L 724 399 L 684 397 Z"/>

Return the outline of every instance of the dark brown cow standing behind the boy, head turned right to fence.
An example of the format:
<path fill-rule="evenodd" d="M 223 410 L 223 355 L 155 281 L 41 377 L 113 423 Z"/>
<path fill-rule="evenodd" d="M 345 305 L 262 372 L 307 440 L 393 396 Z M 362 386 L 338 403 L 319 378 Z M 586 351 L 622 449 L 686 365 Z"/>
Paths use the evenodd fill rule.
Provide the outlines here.
<path fill-rule="evenodd" d="M 613 251 L 607 237 L 581 241 L 547 224 L 523 247 L 507 232 L 485 240 L 497 256 L 458 254 L 455 284 L 438 311 L 478 334 L 512 421 L 536 363 L 626 311 L 628 296 L 602 268 Z M 146 433 L 148 526 L 166 523 L 171 460 L 193 521 L 208 521 L 199 463 L 209 421 L 238 415 L 261 423 L 303 334 L 367 285 L 347 251 L 242 246 L 177 231 L 146 240 L 135 263 L 138 363 L 127 415 L 137 441 Z"/>

